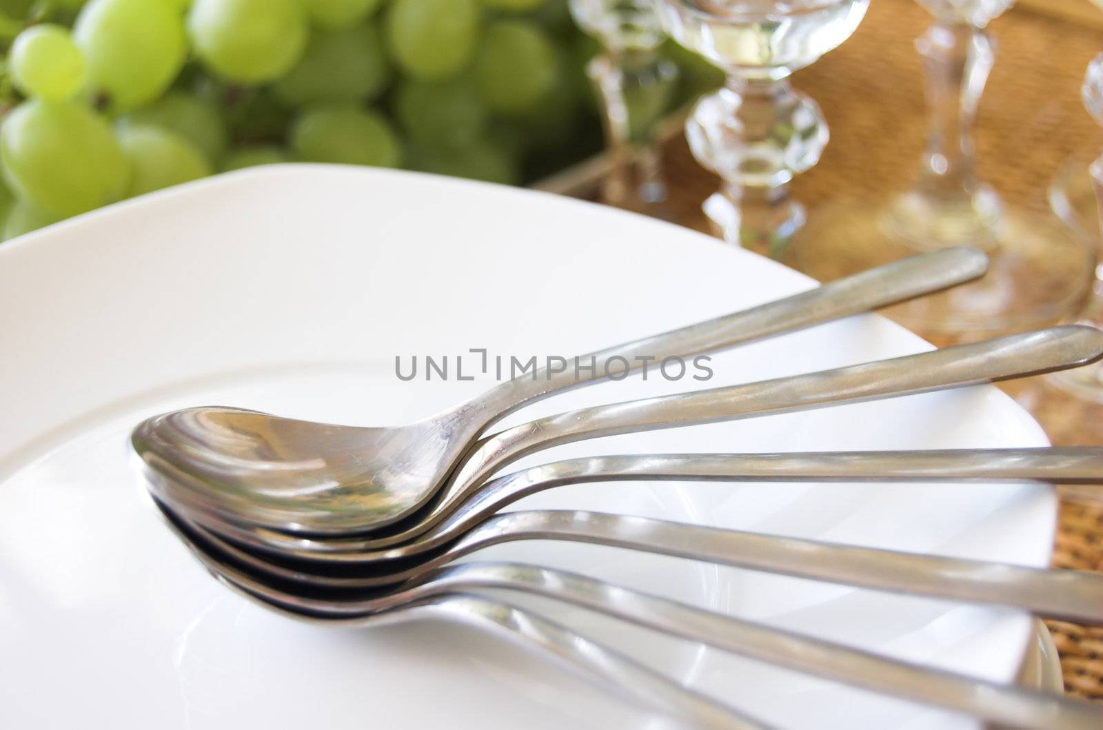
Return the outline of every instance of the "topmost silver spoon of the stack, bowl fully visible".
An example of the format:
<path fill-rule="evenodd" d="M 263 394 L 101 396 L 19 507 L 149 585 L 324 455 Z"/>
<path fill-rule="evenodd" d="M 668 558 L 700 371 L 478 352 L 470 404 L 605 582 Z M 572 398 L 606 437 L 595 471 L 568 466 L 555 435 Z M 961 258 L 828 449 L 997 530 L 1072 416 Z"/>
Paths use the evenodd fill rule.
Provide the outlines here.
<path fill-rule="evenodd" d="M 429 502 L 480 433 L 517 408 L 625 369 L 639 358 L 687 357 L 904 301 L 984 273 L 978 250 L 923 254 L 793 297 L 592 355 L 592 371 L 540 371 L 424 421 L 356 428 L 233 408 L 197 408 L 147 420 L 132 443 L 221 490 L 270 493 L 338 508 L 302 511 L 292 527 L 315 534 L 368 530 Z M 582 356 L 589 361 L 591 356 Z M 617 358 L 613 361 L 613 358 Z"/>

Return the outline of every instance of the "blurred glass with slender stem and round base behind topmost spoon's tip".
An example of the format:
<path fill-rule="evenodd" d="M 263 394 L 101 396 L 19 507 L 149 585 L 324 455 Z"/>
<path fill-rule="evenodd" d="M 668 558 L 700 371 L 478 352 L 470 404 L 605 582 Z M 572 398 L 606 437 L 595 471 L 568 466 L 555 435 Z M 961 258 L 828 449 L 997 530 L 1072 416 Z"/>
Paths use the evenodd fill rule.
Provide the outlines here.
<path fill-rule="evenodd" d="M 1052 212 L 1000 200 L 974 160 L 974 120 L 995 60 L 986 26 L 1014 0 L 918 2 L 934 22 L 915 43 L 929 110 L 915 182 L 881 203 L 825 206 L 786 262 L 829 279 L 917 249 L 975 246 L 990 257 L 985 277 L 889 315 L 952 339 L 1054 322 L 1082 299 L 1094 254 Z"/>

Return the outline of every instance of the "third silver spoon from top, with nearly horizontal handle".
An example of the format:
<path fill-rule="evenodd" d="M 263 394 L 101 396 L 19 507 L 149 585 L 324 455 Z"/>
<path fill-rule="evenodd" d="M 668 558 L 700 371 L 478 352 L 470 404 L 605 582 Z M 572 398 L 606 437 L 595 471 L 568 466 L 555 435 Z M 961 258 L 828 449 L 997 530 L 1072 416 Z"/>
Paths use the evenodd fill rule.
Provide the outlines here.
<path fill-rule="evenodd" d="M 459 539 L 518 500 L 565 484 L 623 481 L 722 482 L 1013 482 L 1103 484 L 1103 447 L 1035 449 L 955 449 L 929 451 L 852 451 L 748 454 L 649 454 L 570 459 L 533 466 L 485 483 L 448 517 L 403 547 L 429 551 Z M 157 494 L 175 500 L 170 489 Z M 302 559 L 349 554 L 356 561 L 375 548 L 362 538 L 311 539 L 251 528 L 204 515 L 196 519 L 213 532 L 263 551 Z M 409 555 L 409 554 L 407 554 Z M 340 558 L 339 558 L 340 559 Z M 370 558 L 368 558 L 370 559 Z"/>

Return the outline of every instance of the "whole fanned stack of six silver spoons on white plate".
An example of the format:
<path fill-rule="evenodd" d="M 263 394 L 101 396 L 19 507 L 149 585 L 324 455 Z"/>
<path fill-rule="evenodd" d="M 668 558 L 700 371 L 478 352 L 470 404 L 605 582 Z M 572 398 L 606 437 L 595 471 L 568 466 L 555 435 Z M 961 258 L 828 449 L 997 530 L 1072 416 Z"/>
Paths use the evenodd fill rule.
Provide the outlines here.
<path fill-rule="evenodd" d="M 570 441 L 855 402 L 1075 367 L 1103 333 L 1063 326 L 941 351 L 694 393 L 574 410 L 484 436 L 517 408 L 586 385 L 612 358 L 688 357 L 877 309 L 984 272 L 947 249 L 593 355 L 591 377 L 540 372 L 411 426 L 353 428 L 234 408 L 139 425 L 132 443 L 170 526 L 223 582 L 312 621 L 393 621 L 436 612 L 536 644 L 621 693 L 697 727 L 764 727 L 516 606 L 467 594 L 537 593 L 791 668 L 1025 728 L 1097 728 L 1094 708 L 978 683 L 564 573 L 453 561 L 520 539 L 592 543 L 816 580 L 1103 623 L 1103 577 L 910 555 L 585 512 L 502 507 L 563 484 L 618 480 L 1008 481 L 1103 483 L 1103 450 L 600 457 L 492 479 Z M 642 356 L 642 357 L 638 357 Z M 589 356 L 586 356 L 589 358 Z M 597 489 L 597 487 L 596 487 Z"/>

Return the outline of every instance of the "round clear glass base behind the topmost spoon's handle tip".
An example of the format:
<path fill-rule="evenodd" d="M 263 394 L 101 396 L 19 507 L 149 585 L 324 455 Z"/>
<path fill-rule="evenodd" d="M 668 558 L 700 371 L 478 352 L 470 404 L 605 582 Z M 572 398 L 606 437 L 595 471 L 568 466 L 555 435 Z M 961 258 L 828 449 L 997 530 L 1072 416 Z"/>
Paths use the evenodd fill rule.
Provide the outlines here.
<path fill-rule="evenodd" d="M 914 237 L 893 234 L 898 201 L 820 206 L 778 258 L 827 281 L 932 248 L 930 239 L 920 247 Z M 982 279 L 884 313 L 940 342 L 976 340 L 1061 320 L 1080 305 L 1093 278 L 1094 247 L 1048 213 L 1004 205 L 1000 224 L 977 243 L 990 259 Z"/>

